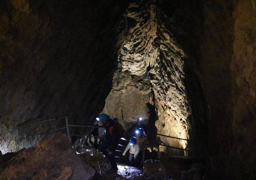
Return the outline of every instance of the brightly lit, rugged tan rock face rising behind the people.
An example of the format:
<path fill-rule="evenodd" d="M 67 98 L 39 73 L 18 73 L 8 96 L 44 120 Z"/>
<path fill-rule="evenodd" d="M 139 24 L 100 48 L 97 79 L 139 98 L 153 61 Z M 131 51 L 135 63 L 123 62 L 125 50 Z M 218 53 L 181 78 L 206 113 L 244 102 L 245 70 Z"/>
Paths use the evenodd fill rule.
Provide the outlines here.
<path fill-rule="evenodd" d="M 157 112 L 158 133 L 188 139 L 193 116 L 184 80 L 187 55 L 172 32 L 174 22 L 152 3 L 131 3 L 127 12 L 127 33 L 103 112 L 118 117 L 127 129 L 127 122 L 135 122 L 138 116 L 149 120 L 151 104 Z M 160 139 L 187 147 L 186 141 Z M 167 151 L 184 155 L 180 150 Z"/>

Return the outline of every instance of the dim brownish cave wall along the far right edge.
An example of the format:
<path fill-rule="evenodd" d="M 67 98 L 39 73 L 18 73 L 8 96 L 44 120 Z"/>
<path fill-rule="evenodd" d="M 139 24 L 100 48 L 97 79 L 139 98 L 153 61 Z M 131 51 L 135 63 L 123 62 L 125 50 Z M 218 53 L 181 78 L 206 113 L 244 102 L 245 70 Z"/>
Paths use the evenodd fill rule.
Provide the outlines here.
<path fill-rule="evenodd" d="M 208 1 L 201 76 L 209 104 L 212 179 L 255 179 L 255 0 Z"/>

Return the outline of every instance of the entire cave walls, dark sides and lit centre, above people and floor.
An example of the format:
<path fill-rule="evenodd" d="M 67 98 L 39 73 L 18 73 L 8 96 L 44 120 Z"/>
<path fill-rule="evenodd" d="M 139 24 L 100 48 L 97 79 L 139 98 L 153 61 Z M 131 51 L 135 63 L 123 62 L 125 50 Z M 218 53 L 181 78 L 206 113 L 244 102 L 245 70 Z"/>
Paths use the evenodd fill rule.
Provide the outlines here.
<path fill-rule="evenodd" d="M 125 20 L 121 0 L 0 2 L 0 150 L 57 126 L 13 129 L 29 119 L 89 122 L 110 92 L 104 112 L 126 128 L 141 115 L 196 140 L 160 139 L 199 145 L 209 178 L 256 179 L 256 1 L 131 2 Z"/>

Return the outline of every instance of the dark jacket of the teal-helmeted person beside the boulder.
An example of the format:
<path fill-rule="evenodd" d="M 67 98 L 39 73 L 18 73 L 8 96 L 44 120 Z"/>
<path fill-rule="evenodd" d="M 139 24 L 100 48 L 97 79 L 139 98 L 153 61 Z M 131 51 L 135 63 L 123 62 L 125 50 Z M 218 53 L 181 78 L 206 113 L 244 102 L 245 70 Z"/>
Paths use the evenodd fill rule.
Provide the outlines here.
<path fill-rule="evenodd" d="M 109 151 L 115 152 L 119 142 L 119 134 L 117 127 L 112 122 L 109 127 L 106 127 L 105 140 L 107 141 Z"/>

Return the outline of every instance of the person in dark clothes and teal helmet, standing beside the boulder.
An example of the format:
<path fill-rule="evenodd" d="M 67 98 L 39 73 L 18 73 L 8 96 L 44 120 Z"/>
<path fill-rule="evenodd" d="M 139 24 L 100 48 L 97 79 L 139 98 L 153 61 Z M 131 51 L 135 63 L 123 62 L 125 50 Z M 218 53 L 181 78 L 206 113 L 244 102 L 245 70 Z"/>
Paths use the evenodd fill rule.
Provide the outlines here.
<path fill-rule="evenodd" d="M 108 173 L 116 173 L 118 171 L 118 167 L 115 161 L 115 150 L 119 142 L 118 129 L 114 126 L 113 120 L 110 119 L 107 114 L 100 114 L 96 119 L 99 121 L 101 126 L 105 127 L 106 132 L 99 150 L 110 160 L 111 169 Z"/>

